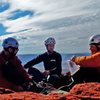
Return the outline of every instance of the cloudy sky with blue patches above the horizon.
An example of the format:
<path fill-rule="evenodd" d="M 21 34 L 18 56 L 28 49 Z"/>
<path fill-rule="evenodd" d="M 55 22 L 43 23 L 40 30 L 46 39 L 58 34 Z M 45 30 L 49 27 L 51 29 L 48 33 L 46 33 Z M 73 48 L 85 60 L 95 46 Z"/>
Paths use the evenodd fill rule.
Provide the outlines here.
<path fill-rule="evenodd" d="M 56 40 L 59 53 L 90 52 L 89 37 L 100 34 L 100 0 L 0 0 L 2 41 L 14 37 L 19 54 L 46 51 L 44 41 Z"/>

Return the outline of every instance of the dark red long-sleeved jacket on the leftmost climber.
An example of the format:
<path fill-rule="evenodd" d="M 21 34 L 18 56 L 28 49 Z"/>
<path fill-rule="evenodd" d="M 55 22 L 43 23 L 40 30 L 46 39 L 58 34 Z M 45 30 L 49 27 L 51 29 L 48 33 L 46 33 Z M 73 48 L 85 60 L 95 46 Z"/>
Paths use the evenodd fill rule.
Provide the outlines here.
<path fill-rule="evenodd" d="M 21 64 L 21 61 L 18 59 L 17 56 L 14 56 L 12 59 L 7 59 L 4 53 L 1 52 L 0 53 L 0 87 L 13 89 L 16 86 L 14 83 L 8 81 L 3 75 L 2 67 L 4 67 L 3 65 L 6 64 L 8 60 L 14 65 L 19 75 L 23 77 L 25 81 L 30 80 L 29 78 L 30 75 L 25 71 L 24 67 Z"/>

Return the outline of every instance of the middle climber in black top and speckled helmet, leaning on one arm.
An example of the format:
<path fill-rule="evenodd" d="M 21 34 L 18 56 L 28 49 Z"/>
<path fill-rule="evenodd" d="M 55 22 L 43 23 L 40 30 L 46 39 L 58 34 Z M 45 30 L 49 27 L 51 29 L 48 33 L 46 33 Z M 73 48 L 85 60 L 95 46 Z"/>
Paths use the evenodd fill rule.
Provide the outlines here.
<path fill-rule="evenodd" d="M 62 58 L 59 53 L 54 51 L 55 43 L 56 42 L 54 38 L 47 38 L 44 41 L 47 52 L 39 55 L 24 65 L 25 68 L 29 68 L 29 73 L 36 77 L 35 81 L 37 82 L 40 82 L 44 77 L 47 77 L 48 75 L 50 75 L 48 80 L 51 83 L 57 83 L 59 80 L 62 71 Z M 41 72 L 37 74 L 39 71 L 35 68 L 32 68 L 32 66 L 40 62 L 43 62 L 45 71 L 42 72 L 42 74 Z"/>

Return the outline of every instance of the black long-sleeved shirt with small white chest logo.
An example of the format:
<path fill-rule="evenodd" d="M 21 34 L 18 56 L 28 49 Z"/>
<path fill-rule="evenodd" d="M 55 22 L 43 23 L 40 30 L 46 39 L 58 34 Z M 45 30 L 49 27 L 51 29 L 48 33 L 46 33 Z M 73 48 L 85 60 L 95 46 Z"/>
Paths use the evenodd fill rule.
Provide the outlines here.
<path fill-rule="evenodd" d="M 62 67 L 62 58 L 61 55 L 57 52 L 53 52 L 52 54 L 48 55 L 48 53 L 43 53 L 36 57 L 35 59 L 32 59 L 27 64 L 25 64 L 25 68 L 29 68 L 31 66 L 34 66 L 35 64 L 38 64 L 40 62 L 44 63 L 45 70 L 49 70 L 51 74 L 61 74 Z"/>

